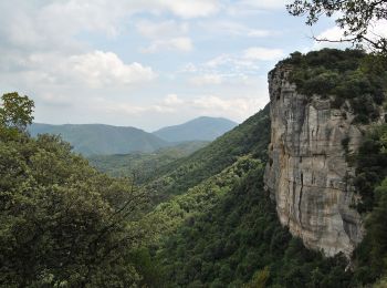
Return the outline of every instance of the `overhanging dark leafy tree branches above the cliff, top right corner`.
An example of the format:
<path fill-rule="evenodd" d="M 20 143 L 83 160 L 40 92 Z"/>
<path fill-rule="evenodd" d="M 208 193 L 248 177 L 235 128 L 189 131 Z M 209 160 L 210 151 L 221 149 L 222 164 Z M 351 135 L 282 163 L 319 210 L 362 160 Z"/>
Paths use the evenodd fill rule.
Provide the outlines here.
<path fill-rule="evenodd" d="M 315 24 L 322 16 L 337 17 L 343 38 L 317 41 L 351 42 L 387 54 L 387 39 L 373 31 L 377 21 L 387 19 L 387 0 L 294 0 L 286 6 L 292 16 L 306 14 L 306 24 Z"/>

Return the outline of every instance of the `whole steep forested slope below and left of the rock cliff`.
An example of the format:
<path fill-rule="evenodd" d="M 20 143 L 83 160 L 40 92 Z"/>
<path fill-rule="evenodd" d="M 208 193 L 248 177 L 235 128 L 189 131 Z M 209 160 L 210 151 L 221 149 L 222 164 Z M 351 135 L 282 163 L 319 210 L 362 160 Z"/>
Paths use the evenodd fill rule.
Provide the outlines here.
<path fill-rule="evenodd" d="M 263 189 L 269 138 L 268 105 L 155 173 L 146 188 L 164 202 L 149 214 L 160 225 L 149 250 L 165 287 L 351 287 L 345 260 L 307 250 L 281 226 Z"/>

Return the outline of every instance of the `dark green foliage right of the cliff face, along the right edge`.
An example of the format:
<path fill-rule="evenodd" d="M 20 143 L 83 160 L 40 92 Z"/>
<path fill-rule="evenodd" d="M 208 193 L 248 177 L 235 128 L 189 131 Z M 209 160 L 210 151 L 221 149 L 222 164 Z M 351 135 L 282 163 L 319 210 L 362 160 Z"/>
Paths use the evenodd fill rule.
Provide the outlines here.
<path fill-rule="evenodd" d="M 357 209 L 366 235 L 353 256 L 355 281 L 366 285 L 387 272 L 387 124 L 372 127 L 357 154 L 355 185 L 362 196 Z M 380 281 L 381 285 L 383 281 Z"/>

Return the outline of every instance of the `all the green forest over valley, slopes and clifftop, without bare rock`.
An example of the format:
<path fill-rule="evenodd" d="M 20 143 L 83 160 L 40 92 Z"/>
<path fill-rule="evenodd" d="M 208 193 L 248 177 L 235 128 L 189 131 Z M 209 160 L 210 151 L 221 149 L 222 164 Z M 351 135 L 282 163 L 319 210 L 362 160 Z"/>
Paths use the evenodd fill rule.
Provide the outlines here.
<path fill-rule="evenodd" d="M 360 125 L 380 119 L 386 94 L 386 73 L 373 61 L 362 51 L 322 50 L 281 64 L 302 93 L 332 82 L 333 107 L 359 101 Z M 385 287 L 386 124 L 364 126 L 351 158 L 365 239 L 352 259 L 327 258 L 281 226 L 264 191 L 269 105 L 192 154 L 196 146 L 177 157 L 164 150 L 142 161 L 92 160 L 105 174 L 57 136 L 31 137 L 29 97 L 9 93 L 2 103 L 2 287 Z M 134 167 L 146 175 L 139 183 Z"/>

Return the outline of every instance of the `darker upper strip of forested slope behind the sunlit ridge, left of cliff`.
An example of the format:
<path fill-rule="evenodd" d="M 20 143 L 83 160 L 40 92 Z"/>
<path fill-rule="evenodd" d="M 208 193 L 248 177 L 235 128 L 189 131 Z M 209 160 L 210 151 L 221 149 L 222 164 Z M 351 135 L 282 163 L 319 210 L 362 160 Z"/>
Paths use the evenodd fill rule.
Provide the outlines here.
<path fill-rule="evenodd" d="M 156 171 L 146 189 L 155 195 L 157 202 L 182 194 L 232 165 L 240 156 L 252 153 L 265 160 L 269 141 L 270 117 L 266 105 L 205 148 Z"/>

